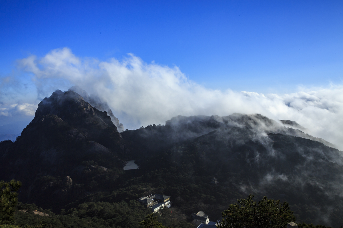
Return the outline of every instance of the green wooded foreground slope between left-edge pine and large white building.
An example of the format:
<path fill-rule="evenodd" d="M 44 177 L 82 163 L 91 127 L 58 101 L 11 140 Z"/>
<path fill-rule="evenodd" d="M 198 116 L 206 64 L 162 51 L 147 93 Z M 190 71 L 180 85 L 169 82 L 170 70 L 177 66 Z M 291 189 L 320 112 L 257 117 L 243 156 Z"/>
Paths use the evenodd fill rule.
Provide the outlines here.
<path fill-rule="evenodd" d="M 139 222 L 149 214 L 149 210 L 135 200 L 129 202 L 87 202 L 67 212 L 61 210 L 55 214 L 50 210 L 43 210 L 34 204 L 19 203 L 15 221 L 17 224 L 38 226 L 45 224 L 50 227 L 139 227 Z M 49 216 L 35 214 L 40 211 Z"/>

